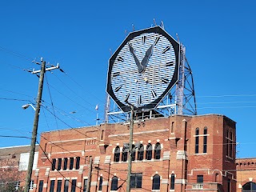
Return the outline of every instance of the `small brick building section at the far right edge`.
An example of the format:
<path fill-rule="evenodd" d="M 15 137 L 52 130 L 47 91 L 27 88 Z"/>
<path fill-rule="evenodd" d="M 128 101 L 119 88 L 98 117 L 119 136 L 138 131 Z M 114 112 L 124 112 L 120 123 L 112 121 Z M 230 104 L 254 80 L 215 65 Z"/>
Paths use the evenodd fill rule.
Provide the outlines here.
<path fill-rule="evenodd" d="M 237 192 L 256 191 L 256 158 L 238 158 Z"/>

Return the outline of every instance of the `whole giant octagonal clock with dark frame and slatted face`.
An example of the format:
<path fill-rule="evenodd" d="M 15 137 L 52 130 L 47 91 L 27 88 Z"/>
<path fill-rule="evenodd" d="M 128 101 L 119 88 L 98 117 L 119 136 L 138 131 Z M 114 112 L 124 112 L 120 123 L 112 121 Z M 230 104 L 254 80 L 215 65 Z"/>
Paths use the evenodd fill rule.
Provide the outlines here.
<path fill-rule="evenodd" d="M 156 26 L 127 36 L 110 58 L 107 93 L 125 112 L 154 109 L 178 80 L 179 44 Z"/>

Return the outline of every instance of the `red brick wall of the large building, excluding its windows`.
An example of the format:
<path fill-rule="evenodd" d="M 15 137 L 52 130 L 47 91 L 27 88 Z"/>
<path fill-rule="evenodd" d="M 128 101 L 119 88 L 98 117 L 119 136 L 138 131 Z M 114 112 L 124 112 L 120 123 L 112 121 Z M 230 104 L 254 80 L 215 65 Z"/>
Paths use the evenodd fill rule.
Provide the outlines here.
<path fill-rule="evenodd" d="M 197 127 L 199 128 L 199 153 L 195 154 L 194 134 Z M 205 154 L 202 153 L 204 127 L 207 127 L 207 152 Z M 142 189 L 131 191 L 151 191 L 152 178 L 155 174 L 161 178 L 158 191 L 169 191 L 170 175 L 175 174 L 175 191 L 186 189 L 197 191 L 196 187 L 203 187 L 203 191 L 218 191 L 219 188 L 228 192 L 227 178 L 230 178 L 230 191 L 235 192 L 235 144 L 233 157 L 227 158 L 226 129 L 233 130 L 235 143 L 235 122 L 222 115 L 209 114 L 193 117 L 174 115 L 170 118 L 156 118 L 139 124 L 135 123 L 134 144 L 142 143 L 146 151 L 146 145 L 149 142 L 153 150 L 154 144 L 159 142 L 162 148 L 160 159 L 145 160 L 146 154 L 144 153 L 143 161 L 135 160 L 132 163 L 132 173 L 142 173 Z M 89 174 L 89 162 L 86 161 L 88 159 L 86 157 L 92 156 L 94 163 L 95 157 L 100 157 L 100 161 L 98 164 L 93 164 L 90 189 L 96 190 L 98 186 L 95 184 L 98 185 L 98 178 L 102 176 L 102 191 L 110 191 L 111 178 L 116 176 L 119 179 L 118 186 L 120 186 L 118 191 L 126 191 L 127 162 L 122 162 L 121 157 L 119 162 L 114 162 L 114 149 L 116 146 L 122 148 L 124 143 L 129 142 L 129 138 L 129 126 L 118 123 L 43 133 L 40 146 L 45 150 L 49 159 L 45 158 L 43 150 L 39 148 L 39 172 L 38 176 L 34 177 L 34 180 L 38 181 L 37 188 L 39 181 L 43 180 L 44 183 L 48 183 L 43 191 L 49 191 L 50 179 L 55 179 L 56 190 L 57 180 L 64 177 L 69 178 L 70 182 L 72 178 L 76 178 L 77 186 L 83 185 L 83 178 L 88 177 Z M 137 152 L 136 150 L 136 159 Z M 165 157 L 163 157 L 164 154 L 166 154 Z M 111 157 L 110 163 L 105 163 L 107 156 Z M 53 158 L 74 157 L 81 158 L 80 171 L 51 170 L 50 162 Z M 47 168 L 50 168 L 49 174 L 46 174 Z M 203 185 L 197 183 L 198 175 L 203 175 Z M 64 180 L 62 180 L 62 190 L 63 182 Z M 77 188 L 76 191 L 80 190 Z"/>

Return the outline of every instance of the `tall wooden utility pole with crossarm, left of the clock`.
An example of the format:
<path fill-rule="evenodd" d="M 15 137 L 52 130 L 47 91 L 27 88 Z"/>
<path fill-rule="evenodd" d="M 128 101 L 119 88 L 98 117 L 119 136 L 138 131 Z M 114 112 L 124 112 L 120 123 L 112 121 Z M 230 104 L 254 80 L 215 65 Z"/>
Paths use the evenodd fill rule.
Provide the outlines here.
<path fill-rule="evenodd" d="M 39 65 L 38 62 L 36 63 Z M 33 70 L 31 72 L 31 74 L 40 73 L 40 77 L 39 77 L 39 84 L 38 84 L 38 98 L 37 98 L 37 104 L 36 104 L 35 113 L 34 113 L 33 132 L 32 132 L 31 144 L 30 144 L 30 158 L 29 158 L 29 165 L 27 168 L 26 185 L 25 185 L 24 192 L 28 192 L 30 190 L 30 181 L 31 181 L 31 175 L 32 175 L 33 164 L 34 164 L 34 149 L 35 149 L 37 134 L 38 134 L 38 119 L 39 119 L 40 106 L 41 106 L 41 100 L 42 100 L 42 87 L 43 87 L 44 74 L 46 73 L 46 70 L 54 70 L 58 68 L 59 66 L 57 65 L 57 66 L 52 66 L 46 69 L 46 62 L 43 61 L 43 59 L 41 58 L 41 70 Z"/>

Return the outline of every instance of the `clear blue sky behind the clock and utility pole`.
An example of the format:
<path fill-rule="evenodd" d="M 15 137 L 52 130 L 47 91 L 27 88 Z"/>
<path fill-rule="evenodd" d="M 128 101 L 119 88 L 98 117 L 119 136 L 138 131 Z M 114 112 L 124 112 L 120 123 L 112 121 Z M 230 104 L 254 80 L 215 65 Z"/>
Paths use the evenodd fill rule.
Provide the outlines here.
<path fill-rule="evenodd" d="M 95 125 L 97 104 L 103 118 L 110 50 L 133 24 L 141 30 L 155 19 L 186 46 L 198 114 L 233 119 L 237 157 L 256 157 L 255 7 L 253 0 L 0 2 L 0 135 L 31 136 L 34 110 L 21 106 L 34 102 L 38 77 L 23 69 L 39 69 L 31 61 L 40 57 L 66 74 L 46 73 L 39 134 Z M 0 147 L 30 144 L 0 139 Z"/>

